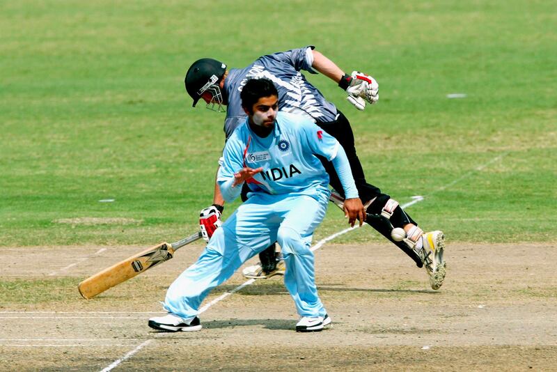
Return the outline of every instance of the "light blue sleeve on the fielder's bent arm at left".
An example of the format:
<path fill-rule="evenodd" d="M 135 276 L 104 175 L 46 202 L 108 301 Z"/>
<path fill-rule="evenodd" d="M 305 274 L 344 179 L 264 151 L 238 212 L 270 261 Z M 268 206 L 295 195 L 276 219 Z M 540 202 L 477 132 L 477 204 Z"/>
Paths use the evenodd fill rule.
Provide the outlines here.
<path fill-rule="evenodd" d="M 233 136 L 224 146 L 222 164 L 217 173 L 217 183 L 221 189 L 223 199 L 227 202 L 233 201 L 242 192 L 242 185 L 232 187 L 232 184 L 234 183 L 234 174 L 243 167 L 242 146 L 237 140 L 237 136 Z"/>

